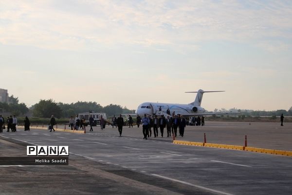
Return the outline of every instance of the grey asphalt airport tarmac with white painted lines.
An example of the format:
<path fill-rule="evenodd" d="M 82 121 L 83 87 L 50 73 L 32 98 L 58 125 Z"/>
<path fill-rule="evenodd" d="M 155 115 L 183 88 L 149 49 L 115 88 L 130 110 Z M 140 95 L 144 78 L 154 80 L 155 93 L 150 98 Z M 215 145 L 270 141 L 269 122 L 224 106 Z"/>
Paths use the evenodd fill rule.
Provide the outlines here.
<path fill-rule="evenodd" d="M 202 141 L 206 132 L 207 142 L 230 144 L 225 141 L 232 142 L 234 137 L 243 143 L 242 135 L 253 133 L 262 137 L 255 138 L 258 146 L 289 149 L 289 125 L 285 129 L 271 126 L 214 122 L 187 127 L 185 136 L 177 138 Z M 276 143 L 278 137 L 270 140 L 271 132 L 278 135 L 280 131 L 285 135 L 278 140 L 282 145 Z M 70 156 L 69 166 L 0 167 L 0 194 L 291 195 L 292 157 L 176 145 L 171 141 L 171 137 L 145 140 L 142 127 L 124 127 L 122 137 L 109 126 L 105 130 L 95 127 L 87 134 L 34 129 L 4 132 L 0 134 L 0 156 L 26 156 L 25 146 L 30 144 L 69 145 Z"/>

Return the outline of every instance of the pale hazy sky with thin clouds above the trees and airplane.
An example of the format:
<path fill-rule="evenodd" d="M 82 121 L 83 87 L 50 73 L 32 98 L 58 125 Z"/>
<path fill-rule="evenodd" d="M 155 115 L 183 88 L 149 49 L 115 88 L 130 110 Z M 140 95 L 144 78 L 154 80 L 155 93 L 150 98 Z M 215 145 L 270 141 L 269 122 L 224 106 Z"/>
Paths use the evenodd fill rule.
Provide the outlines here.
<path fill-rule="evenodd" d="M 0 88 L 136 109 L 292 106 L 291 0 L 1 0 Z"/>

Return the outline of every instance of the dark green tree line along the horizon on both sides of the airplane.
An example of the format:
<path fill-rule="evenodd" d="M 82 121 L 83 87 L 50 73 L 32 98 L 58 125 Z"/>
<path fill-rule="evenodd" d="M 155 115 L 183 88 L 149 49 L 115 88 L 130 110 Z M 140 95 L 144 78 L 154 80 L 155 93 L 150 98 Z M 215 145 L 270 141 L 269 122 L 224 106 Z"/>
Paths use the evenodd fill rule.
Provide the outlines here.
<path fill-rule="evenodd" d="M 110 104 L 107 106 L 101 106 L 95 101 L 77 101 L 75 103 L 62 103 L 55 102 L 53 99 L 41 99 L 38 103 L 28 108 L 25 103 L 19 103 L 18 98 L 13 95 L 9 97 L 9 104 L 0 102 L 0 112 L 9 112 L 12 115 L 25 115 L 29 111 L 32 112 L 34 117 L 44 117 L 49 118 L 54 115 L 57 118 L 67 118 L 74 116 L 78 113 L 84 112 L 102 112 L 106 113 L 108 116 L 119 114 L 134 114 L 134 110 L 129 110 L 126 107 L 122 107 L 117 104 Z M 240 112 L 240 115 L 245 116 L 292 116 L 292 107 L 289 110 L 275 110 L 275 111 L 254 111 L 254 110 L 241 110 L 237 108 L 232 108 L 226 110 L 224 108 L 215 109 L 214 112 Z"/>

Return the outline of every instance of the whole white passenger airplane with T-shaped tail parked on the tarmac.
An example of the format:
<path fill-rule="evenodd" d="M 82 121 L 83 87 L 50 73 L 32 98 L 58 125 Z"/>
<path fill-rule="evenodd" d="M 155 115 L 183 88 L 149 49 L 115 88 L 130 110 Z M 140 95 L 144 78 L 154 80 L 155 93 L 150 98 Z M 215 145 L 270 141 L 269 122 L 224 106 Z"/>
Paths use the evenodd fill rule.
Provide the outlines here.
<path fill-rule="evenodd" d="M 206 113 L 206 110 L 201 107 L 201 101 L 204 93 L 212 92 L 224 92 L 224 91 L 194 91 L 194 92 L 185 92 L 185 93 L 197 93 L 195 101 L 189 104 L 177 104 L 177 103 L 155 103 L 155 102 L 144 102 L 138 106 L 136 109 L 136 115 L 144 116 L 161 116 L 171 117 L 174 112 L 175 115 L 183 115 L 184 117 L 196 117 L 196 116 L 208 116 L 208 115 L 228 115 L 228 114 L 238 114 L 236 112 L 219 112 L 219 113 Z M 161 108 L 161 111 L 159 110 Z M 166 113 L 166 110 L 170 110 L 170 115 Z M 127 114 L 131 115 L 131 114 Z M 134 115 L 134 114 L 132 114 Z"/>

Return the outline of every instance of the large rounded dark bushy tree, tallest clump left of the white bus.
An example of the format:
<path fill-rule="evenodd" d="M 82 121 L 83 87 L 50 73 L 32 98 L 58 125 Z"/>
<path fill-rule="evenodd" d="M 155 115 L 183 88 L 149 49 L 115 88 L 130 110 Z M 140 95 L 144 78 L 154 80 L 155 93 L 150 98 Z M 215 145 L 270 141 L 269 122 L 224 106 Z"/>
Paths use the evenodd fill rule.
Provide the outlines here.
<path fill-rule="evenodd" d="M 35 104 L 35 108 L 33 111 L 34 117 L 44 117 L 49 118 L 51 115 L 59 118 L 62 116 L 61 108 L 53 101 L 53 99 L 44 100 L 41 99 L 37 104 Z"/>

